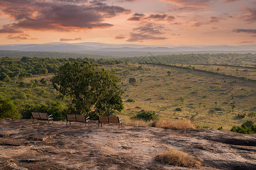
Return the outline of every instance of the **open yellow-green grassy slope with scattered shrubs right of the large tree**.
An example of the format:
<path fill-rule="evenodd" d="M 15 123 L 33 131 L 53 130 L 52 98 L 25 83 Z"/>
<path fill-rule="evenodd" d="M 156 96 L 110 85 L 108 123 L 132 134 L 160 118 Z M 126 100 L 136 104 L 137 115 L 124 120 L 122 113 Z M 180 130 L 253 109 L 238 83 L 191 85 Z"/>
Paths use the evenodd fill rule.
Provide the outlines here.
<path fill-rule="evenodd" d="M 235 117 L 236 114 L 247 114 L 255 109 L 254 82 L 168 66 L 142 65 L 143 70 L 138 70 L 138 66 L 139 64 L 129 63 L 111 68 L 117 70 L 124 82 L 125 109 L 122 114 L 126 116 L 132 116 L 141 109 L 158 112 L 162 117 L 183 120 L 197 114 L 195 124 L 214 129 L 223 126 L 226 130 L 234 125 L 241 125 L 245 120 L 254 120 L 247 116 L 241 120 Z M 129 75 L 123 76 L 125 70 L 130 70 Z M 171 75 L 167 71 L 171 71 Z M 135 77 L 137 83 L 129 84 L 130 77 Z M 203 98 L 204 95 L 207 97 Z M 185 97 L 184 103 L 179 101 L 181 96 Z M 127 99 L 135 102 L 127 102 Z M 222 110 L 211 117 L 208 111 L 216 107 L 215 102 Z M 230 103 L 236 105 L 234 111 Z M 181 108 L 182 111 L 177 112 L 176 108 Z"/>

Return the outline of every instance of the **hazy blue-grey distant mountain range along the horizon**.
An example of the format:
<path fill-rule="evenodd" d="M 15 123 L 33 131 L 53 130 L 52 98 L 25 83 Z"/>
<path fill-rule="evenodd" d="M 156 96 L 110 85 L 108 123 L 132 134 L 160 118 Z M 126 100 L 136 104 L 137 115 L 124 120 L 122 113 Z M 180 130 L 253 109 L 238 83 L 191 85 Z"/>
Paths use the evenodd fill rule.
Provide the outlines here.
<path fill-rule="evenodd" d="M 133 44 L 104 44 L 98 42 L 51 42 L 46 44 L 9 44 L 0 45 L 0 50 L 42 51 L 42 52 L 202 52 L 202 51 L 251 51 L 256 45 L 133 45 Z"/>

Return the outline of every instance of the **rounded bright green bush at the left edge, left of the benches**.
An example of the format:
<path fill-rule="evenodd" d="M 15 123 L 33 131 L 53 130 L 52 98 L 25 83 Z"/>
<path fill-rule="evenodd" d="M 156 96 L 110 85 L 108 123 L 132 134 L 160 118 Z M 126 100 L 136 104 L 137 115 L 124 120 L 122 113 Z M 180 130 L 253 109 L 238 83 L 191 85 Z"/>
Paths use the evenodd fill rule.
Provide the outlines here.
<path fill-rule="evenodd" d="M 19 119 L 18 107 L 10 99 L 0 96 L 0 118 Z"/>

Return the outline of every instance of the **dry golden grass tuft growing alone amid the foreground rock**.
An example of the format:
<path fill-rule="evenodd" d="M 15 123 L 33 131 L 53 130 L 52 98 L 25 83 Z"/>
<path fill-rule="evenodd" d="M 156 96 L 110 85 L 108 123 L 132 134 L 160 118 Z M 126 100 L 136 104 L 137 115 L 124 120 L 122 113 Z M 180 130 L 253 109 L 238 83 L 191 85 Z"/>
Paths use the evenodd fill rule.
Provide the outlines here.
<path fill-rule="evenodd" d="M 203 159 L 188 155 L 178 150 L 164 151 L 158 158 L 161 162 L 173 164 L 175 166 L 200 168 L 203 163 Z"/>

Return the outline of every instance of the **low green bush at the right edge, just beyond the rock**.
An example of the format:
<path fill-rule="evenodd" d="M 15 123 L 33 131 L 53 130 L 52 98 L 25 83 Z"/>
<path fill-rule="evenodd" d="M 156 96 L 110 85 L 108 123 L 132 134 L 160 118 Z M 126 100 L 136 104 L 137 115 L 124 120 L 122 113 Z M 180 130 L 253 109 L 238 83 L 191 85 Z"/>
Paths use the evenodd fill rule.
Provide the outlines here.
<path fill-rule="evenodd" d="M 255 134 L 256 125 L 254 125 L 253 121 L 246 121 L 241 126 L 233 126 L 230 131 L 234 131 L 237 133 Z"/>

